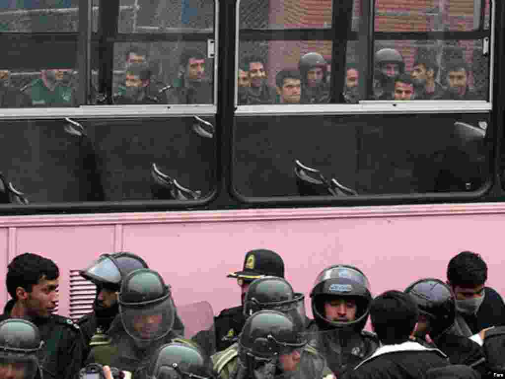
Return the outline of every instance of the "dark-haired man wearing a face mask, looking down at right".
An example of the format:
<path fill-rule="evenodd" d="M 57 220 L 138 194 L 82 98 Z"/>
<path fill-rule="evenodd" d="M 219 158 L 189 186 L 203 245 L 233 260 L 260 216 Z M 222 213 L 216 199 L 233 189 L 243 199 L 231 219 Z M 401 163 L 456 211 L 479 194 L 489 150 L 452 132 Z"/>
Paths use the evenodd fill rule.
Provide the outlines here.
<path fill-rule="evenodd" d="M 486 287 L 487 265 L 479 254 L 463 251 L 447 265 L 447 285 L 454 294 L 456 323 L 464 336 L 505 325 L 505 304 L 491 287 Z"/>

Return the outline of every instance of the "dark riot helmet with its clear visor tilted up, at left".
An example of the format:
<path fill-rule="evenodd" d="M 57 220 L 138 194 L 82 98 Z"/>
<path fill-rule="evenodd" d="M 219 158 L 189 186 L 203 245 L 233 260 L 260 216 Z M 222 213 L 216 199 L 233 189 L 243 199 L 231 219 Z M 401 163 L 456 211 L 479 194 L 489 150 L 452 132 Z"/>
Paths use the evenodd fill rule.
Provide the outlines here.
<path fill-rule="evenodd" d="M 122 278 L 139 268 L 147 268 L 147 263 L 142 258 L 133 253 L 120 252 L 100 255 L 79 274 L 98 287 L 119 291 Z"/>

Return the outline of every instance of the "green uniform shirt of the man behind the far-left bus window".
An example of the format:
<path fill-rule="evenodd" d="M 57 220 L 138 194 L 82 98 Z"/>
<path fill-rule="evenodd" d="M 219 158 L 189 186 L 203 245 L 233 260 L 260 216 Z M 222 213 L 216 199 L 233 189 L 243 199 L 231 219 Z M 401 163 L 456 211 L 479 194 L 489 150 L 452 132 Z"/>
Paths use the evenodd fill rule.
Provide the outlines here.
<path fill-rule="evenodd" d="M 51 90 L 46 87 L 42 79 L 36 79 L 21 91 L 31 98 L 32 106 L 76 106 L 75 93 L 72 87 L 57 84 Z"/>

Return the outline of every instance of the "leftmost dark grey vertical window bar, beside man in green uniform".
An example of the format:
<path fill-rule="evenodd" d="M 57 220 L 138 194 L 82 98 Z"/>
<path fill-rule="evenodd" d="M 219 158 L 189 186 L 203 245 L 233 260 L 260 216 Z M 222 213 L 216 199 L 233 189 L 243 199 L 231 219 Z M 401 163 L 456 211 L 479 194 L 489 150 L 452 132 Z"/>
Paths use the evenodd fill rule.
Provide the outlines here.
<path fill-rule="evenodd" d="M 79 86 L 77 97 L 79 104 L 89 103 L 91 85 L 91 0 L 79 1 L 79 41 L 77 44 L 77 70 L 79 72 Z"/>

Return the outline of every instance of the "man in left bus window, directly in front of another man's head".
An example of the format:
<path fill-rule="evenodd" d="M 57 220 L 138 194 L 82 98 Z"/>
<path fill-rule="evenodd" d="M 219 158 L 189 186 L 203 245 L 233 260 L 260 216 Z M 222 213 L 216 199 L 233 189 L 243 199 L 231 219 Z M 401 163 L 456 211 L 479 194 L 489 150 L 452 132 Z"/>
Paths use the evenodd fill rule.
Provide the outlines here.
<path fill-rule="evenodd" d="M 148 94 L 151 70 L 145 63 L 132 63 L 126 70 L 125 79 L 114 95 L 115 104 L 157 104 L 156 97 Z"/>

